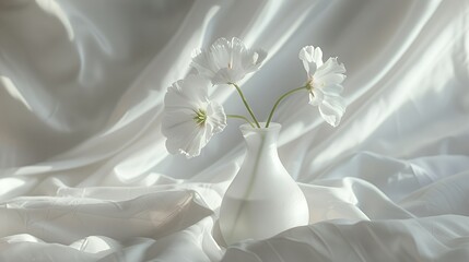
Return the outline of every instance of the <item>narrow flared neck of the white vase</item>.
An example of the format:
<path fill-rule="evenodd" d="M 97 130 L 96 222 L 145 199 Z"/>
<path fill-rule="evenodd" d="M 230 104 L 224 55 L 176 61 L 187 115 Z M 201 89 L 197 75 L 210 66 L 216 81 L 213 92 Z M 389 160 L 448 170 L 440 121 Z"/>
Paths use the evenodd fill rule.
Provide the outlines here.
<path fill-rule="evenodd" d="M 277 141 L 279 138 L 280 123 L 270 123 L 269 128 L 251 128 L 249 124 L 242 124 L 239 130 L 243 133 L 247 146 L 247 157 L 257 154 L 259 151 L 270 151 L 277 155 Z"/>

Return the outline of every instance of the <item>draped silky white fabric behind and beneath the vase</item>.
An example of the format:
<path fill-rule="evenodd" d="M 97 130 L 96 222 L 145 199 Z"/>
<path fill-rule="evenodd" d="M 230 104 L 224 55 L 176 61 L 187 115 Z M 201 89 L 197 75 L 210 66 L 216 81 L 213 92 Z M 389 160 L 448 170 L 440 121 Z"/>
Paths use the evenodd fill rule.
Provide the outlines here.
<path fill-rule="evenodd" d="M 2 0 L 0 261 L 467 261 L 468 29 L 466 0 Z M 189 160 L 160 132 L 166 88 L 222 36 L 269 51 L 242 85 L 262 118 L 306 81 L 303 46 L 348 70 L 338 128 L 300 95 L 274 117 L 310 225 L 227 249 L 241 122 Z"/>

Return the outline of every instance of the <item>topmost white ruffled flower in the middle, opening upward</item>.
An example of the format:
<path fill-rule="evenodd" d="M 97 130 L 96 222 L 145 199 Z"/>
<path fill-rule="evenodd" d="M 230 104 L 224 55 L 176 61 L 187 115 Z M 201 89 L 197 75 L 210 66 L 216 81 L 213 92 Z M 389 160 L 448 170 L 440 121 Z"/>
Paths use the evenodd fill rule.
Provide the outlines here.
<path fill-rule="evenodd" d="M 237 83 L 247 73 L 257 71 L 266 57 L 266 51 L 248 49 L 236 37 L 231 41 L 219 38 L 210 48 L 197 50 L 191 66 L 213 84 Z"/>

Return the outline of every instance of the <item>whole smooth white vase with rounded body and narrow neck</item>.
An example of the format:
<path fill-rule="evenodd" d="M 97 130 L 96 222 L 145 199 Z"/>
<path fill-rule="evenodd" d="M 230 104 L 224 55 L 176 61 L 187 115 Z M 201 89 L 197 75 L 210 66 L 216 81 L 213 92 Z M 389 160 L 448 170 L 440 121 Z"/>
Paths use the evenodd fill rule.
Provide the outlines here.
<path fill-rule="evenodd" d="M 281 126 L 239 127 L 246 142 L 243 165 L 223 196 L 220 230 L 227 245 L 266 239 L 308 224 L 305 195 L 277 153 Z"/>

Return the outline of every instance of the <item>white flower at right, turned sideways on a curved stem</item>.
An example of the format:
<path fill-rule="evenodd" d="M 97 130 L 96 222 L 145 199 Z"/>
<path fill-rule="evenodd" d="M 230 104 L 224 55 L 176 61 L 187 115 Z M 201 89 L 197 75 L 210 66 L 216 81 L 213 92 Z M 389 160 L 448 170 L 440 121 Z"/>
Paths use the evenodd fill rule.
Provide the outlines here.
<path fill-rule="evenodd" d="M 338 63 L 337 58 L 329 58 L 323 62 L 323 51 L 319 47 L 303 47 L 300 59 L 307 72 L 306 86 L 309 90 L 309 104 L 319 107 L 320 116 L 337 127 L 345 112 L 345 102 L 340 96 L 345 79 L 345 67 Z"/>

